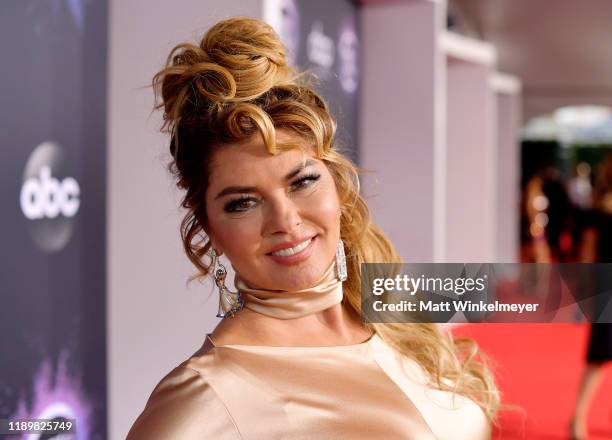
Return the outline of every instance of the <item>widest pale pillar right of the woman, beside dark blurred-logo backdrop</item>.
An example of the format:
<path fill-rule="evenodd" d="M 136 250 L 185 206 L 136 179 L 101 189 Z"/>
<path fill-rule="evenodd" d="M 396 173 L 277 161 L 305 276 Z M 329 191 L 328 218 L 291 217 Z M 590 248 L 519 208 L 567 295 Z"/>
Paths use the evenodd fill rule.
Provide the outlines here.
<path fill-rule="evenodd" d="M 443 259 L 436 250 L 444 242 L 444 173 L 436 168 L 444 166 L 442 11 L 434 1 L 361 11 L 364 195 L 374 221 L 413 262 Z"/>

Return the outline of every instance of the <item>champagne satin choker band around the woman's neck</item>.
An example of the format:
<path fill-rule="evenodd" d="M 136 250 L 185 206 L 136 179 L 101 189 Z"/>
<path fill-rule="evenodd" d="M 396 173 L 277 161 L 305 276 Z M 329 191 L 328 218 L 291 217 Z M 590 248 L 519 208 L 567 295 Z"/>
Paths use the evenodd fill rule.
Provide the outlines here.
<path fill-rule="evenodd" d="M 238 273 L 234 278 L 234 286 L 240 292 L 245 308 L 278 319 L 301 318 L 320 312 L 340 303 L 343 297 L 342 281 L 336 273 L 335 261 L 321 279 L 308 289 L 252 289 Z"/>

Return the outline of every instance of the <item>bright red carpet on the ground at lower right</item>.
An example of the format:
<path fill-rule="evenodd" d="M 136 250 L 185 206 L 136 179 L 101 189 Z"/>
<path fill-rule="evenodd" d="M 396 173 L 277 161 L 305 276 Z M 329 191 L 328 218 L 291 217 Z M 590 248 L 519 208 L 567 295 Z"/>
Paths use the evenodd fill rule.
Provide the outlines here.
<path fill-rule="evenodd" d="M 453 330 L 476 339 L 496 364 L 503 403 L 494 439 L 567 439 L 584 365 L 584 324 L 470 324 Z M 612 363 L 591 405 L 589 440 L 612 439 Z"/>

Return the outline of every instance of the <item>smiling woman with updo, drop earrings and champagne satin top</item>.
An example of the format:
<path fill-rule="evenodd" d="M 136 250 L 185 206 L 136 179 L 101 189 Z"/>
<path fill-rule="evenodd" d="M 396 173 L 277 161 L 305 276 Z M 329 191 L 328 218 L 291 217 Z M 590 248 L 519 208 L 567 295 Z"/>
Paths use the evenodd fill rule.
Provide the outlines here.
<path fill-rule="evenodd" d="M 360 264 L 400 257 L 272 28 L 222 21 L 177 46 L 154 85 L 186 191 L 185 250 L 214 277 L 224 319 L 128 438 L 488 438 L 498 395 L 469 341 L 360 321 Z"/>

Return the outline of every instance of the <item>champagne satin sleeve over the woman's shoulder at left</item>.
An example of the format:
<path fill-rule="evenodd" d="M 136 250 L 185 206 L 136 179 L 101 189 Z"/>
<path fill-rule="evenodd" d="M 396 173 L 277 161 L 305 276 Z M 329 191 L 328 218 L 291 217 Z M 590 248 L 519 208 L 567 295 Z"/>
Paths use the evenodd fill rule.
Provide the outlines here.
<path fill-rule="evenodd" d="M 192 368 L 192 359 L 173 369 L 153 389 L 128 440 L 240 438 L 222 399 L 202 371 Z"/>

